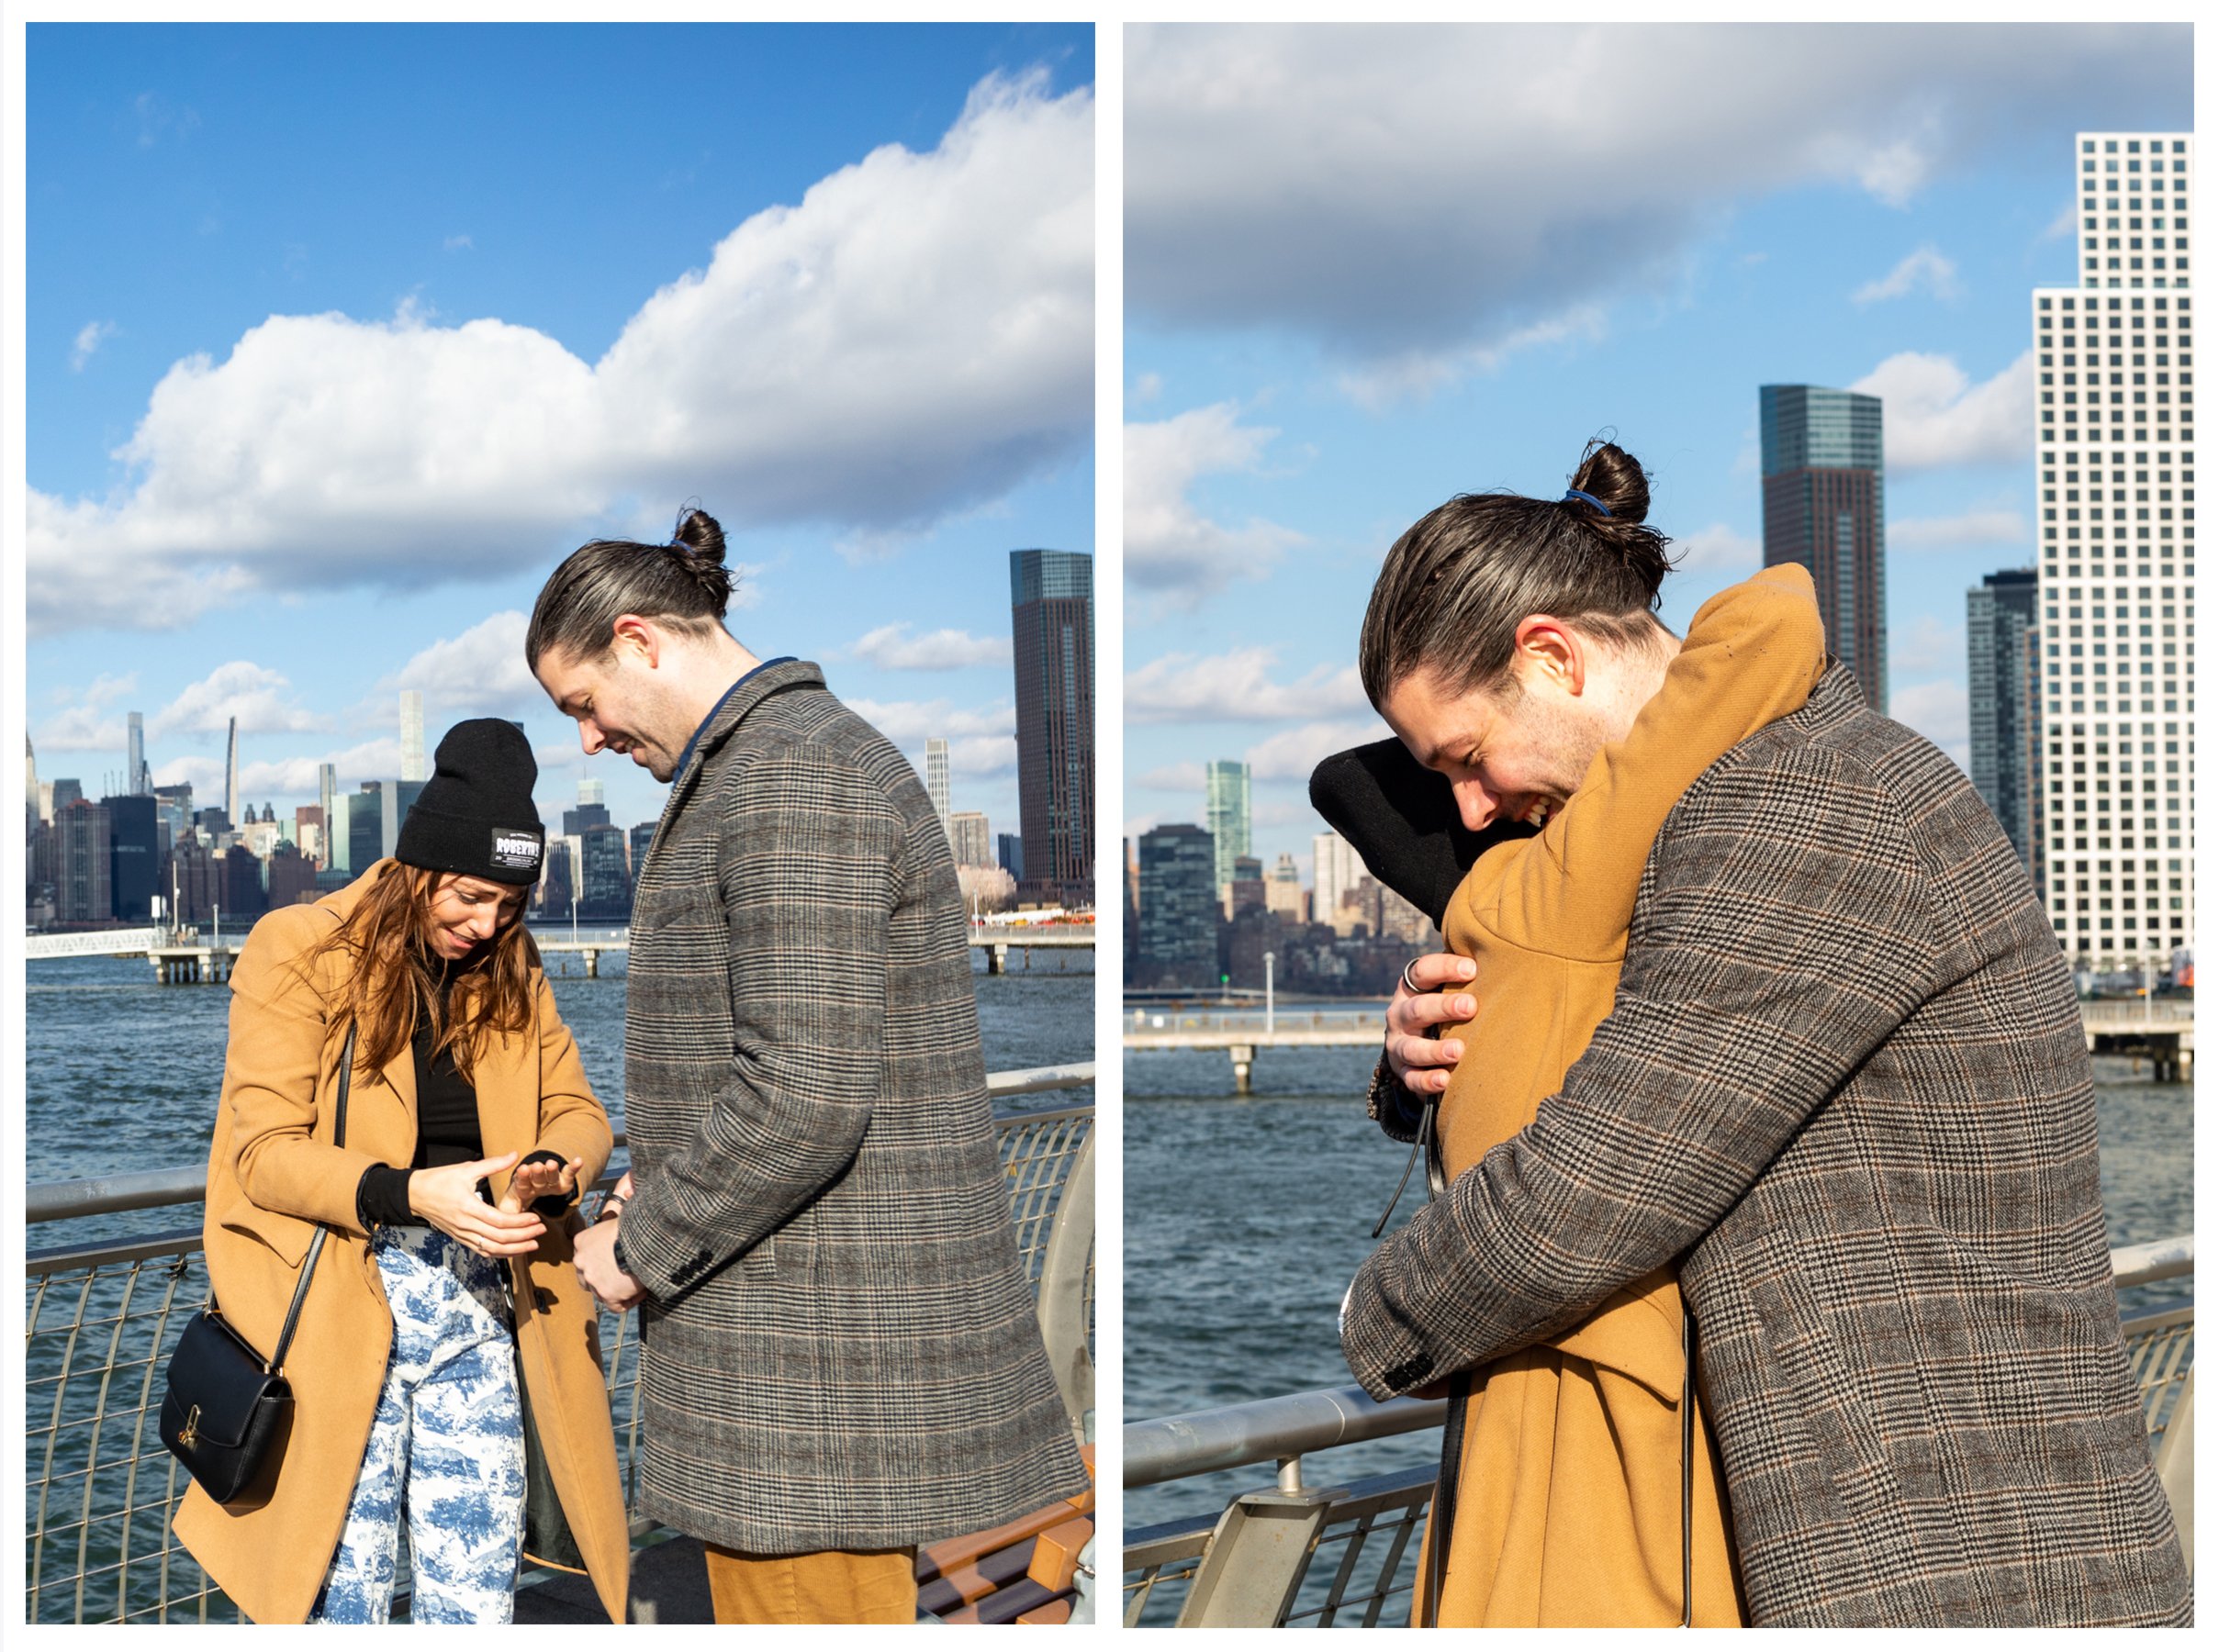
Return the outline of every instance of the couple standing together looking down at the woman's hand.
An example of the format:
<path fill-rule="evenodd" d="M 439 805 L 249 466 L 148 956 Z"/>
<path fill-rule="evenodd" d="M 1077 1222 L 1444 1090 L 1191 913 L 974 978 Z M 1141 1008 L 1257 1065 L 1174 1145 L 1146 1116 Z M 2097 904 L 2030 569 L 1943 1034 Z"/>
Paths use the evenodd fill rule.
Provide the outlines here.
<path fill-rule="evenodd" d="M 910 1623 L 916 1548 L 1081 1492 L 994 1151 L 967 929 L 908 761 L 723 628 L 723 537 L 592 541 L 528 663 L 670 796 L 626 998 L 632 1169 L 521 922 L 521 730 L 455 725 L 395 854 L 255 925 L 209 1155 L 215 1306 L 288 1435 L 175 1530 L 262 1623 L 504 1623 L 519 1559 L 626 1619 L 630 1517 L 723 1623 Z M 288 1315 L 306 1275 L 297 1315 Z M 637 1506 L 599 1311 L 641 1315 Z M 191 1457 L 186 1457 L 191 1464 Z"/>

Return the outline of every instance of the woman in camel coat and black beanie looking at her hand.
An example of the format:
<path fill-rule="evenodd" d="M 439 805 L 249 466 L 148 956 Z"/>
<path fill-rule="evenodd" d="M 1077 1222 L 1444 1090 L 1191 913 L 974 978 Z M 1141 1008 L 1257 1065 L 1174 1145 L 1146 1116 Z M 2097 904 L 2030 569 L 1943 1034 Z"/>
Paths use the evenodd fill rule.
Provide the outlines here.
<path fill-rule="evenodd" d="M 624 1495 L 566 1231 L 610 1129 L 517 920 L 544 843 L 535 765 L 493 718 L 437 761 L 397 858 L 273 911 L 231 976 L 204 1237 L 215 1302 L 255 1348 L 328 1231 L 284 1368 L 291 1437 L 246 1497 L 193 1486 L 175 1519 L 257 1623 L 382 1621 L 404 1501 L 417 1621 L 506 1621 L 519 1550 L 590 1572 L 624 1621 Z M 526 1481 L 550 1492 L 528 1532 Z"/>

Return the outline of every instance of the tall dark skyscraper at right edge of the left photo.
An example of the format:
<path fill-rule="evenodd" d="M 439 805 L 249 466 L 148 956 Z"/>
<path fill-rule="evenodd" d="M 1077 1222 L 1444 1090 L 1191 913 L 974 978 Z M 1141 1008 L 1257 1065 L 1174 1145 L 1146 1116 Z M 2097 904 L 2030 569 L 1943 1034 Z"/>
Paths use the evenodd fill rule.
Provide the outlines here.
<path fill-rule="evenodd" d="M 1094 559 L 1010 552 L 1025 883 L 1094 900 Z"/>

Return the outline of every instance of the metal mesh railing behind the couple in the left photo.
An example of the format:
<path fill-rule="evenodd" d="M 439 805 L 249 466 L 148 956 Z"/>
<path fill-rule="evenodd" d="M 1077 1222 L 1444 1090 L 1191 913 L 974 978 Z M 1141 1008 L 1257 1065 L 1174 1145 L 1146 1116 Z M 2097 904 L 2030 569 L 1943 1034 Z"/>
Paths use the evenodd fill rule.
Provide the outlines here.
<path fill-rule="evenodd" d="M 1087 1089 L 1094 1064 L 990 1073 L 996 1100 Z M 1065 1406 L 1094 1406 L 1094 1109 L 994 1120 L 1019 1255 Z M 624 1144 L 624 1138 L 617 1138 Z M 615 1184 L 621 1166 L 604 1175 Z M 191 1206 L 200 1166 L 31 1186 L 27 1224 Z M 209 1295 L 200 1228 L 36 1248 L 24 1257 L 27 1619 L 31 1623 L 237 1621 L 169 1521 L 186 1475 L 155 1421 L 162 1373 L 184 1319 Z M 639 1342 L 630 1315 L 601 1315 L 610 1421 L 626 1503 L 639 1461 Z M 632 1537 L 657 1528 L 632 1523 Z M 406 1546 L 397 1588 L 406 1590 Z"/>

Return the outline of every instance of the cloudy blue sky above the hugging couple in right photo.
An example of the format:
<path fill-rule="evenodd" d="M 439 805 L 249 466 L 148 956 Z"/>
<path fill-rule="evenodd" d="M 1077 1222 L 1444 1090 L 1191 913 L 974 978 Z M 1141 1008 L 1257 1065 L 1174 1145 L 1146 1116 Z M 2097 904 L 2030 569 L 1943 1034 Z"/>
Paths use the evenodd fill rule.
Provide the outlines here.
<path fill-rule="evenodd" d="M 2030 288 L 2073 135 L 2190 129 L 2186 27 L 1127 31 L 1125 829 L 1385 736 L 1356 630 L 1456 492 L 1615 432 L 1684 554 L 1760 563 L 1757 386 L 1886 415 L 1891 714 L 1966 761 L 1964 590 L 2033 563 Z"/>

